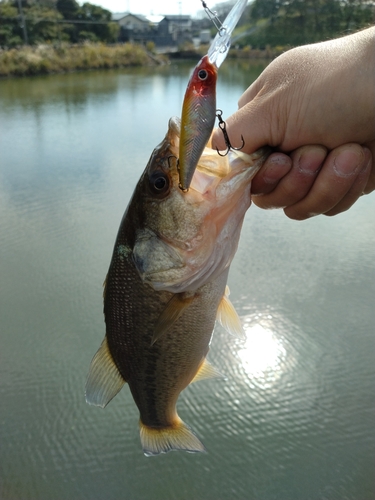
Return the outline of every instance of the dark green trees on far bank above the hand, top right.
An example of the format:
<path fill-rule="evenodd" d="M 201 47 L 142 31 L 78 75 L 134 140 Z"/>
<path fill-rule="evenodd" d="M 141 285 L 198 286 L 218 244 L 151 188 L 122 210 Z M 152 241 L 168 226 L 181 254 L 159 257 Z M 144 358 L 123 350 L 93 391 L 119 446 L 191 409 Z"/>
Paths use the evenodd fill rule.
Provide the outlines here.
<path fill-rule="evenodd" d="M 368 0 L 255 0 L 251 20 L 258 29 L 241 40 L 264 48 L 314 43 L 348 34 L 374 21 Z"/>

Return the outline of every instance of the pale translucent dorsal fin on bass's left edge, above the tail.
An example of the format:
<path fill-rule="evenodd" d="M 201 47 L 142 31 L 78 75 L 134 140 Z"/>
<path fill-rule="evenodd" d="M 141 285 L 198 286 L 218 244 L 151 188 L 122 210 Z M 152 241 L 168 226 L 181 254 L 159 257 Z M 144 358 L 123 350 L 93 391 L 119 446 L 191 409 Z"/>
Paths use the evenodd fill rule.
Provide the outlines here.
<path fill-rule="evenodd" d="M 111 353 L 107 337 L 99 347 L 90 365 L 86 382 L 86 401 L 90 405 L 104 408 L 125 384 L 118 371 Z"/>

